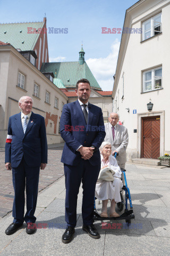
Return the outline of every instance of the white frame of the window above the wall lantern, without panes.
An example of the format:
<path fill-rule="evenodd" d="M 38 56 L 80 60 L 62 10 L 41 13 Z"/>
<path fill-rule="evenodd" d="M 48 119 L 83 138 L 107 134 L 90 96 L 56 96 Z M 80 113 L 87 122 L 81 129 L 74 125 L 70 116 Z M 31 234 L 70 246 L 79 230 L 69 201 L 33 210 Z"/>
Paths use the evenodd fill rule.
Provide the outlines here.
<path fill-rule="evenodd" d="M 162 69 L 163 71 L 163 68 L 162 66 L 159 66 L 159 67 L 156 67 L 156 68 L 152 68 L 152 69 L 148 69 L 148 70 L 145 70 L 143 71 L 143 91 L 142 92 L 151 92 L 151 91 L 155 91 L 155 90 L 160 90 L 160 89 L 163 89 L 163 84 L 162 84 L 162 81 L 163 81 L 163 75 L 162 77 L 160 78 L 157 78 L 155 79 L 155 71 L 158 70 L 158 69 Z M 146 74 L 151 72 L 151 80 L 147 80 L 148 82 L 151 81 L 151 90 L 145 90 L 145 83 L 146 83 L 146 80 L 145 80 L 145 77 L 146 77 Z M 158 80 L 158 79 L 161 79 L 161 87 L 158 87 L 156 88 L 155 86 L 155 81 Z"/>

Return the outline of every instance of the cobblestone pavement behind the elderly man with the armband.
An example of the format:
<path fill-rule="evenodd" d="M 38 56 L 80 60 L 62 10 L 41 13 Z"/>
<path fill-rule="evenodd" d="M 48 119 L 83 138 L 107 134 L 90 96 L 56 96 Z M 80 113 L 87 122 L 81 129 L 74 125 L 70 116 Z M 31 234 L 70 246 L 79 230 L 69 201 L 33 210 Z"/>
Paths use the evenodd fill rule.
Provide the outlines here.
<path fill-rule="evenodd" d="M 61 163 L 63 147 L 48 149 L 48 164 L 45 170 L 40 170 L 39 192 L 51 185 L 64 175 L 63 163 Z M 12 171 L 7 171 L 5 164 L 5 152 L 0 151 L 0 219 L 12 211 L 14 189 L 12 184 Z"/>

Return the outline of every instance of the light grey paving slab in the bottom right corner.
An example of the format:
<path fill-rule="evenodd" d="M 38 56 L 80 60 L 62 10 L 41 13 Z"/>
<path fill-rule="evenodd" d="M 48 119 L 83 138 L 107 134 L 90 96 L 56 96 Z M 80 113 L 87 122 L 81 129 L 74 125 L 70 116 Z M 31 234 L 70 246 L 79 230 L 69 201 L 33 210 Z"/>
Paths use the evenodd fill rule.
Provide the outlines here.
<path fill-rule="evenodd" d="M 112 243 L 114 245 L 112 245 Z M 168 256 L 169 238 L 135 234 L 107 234 L 104 256 Z"/>

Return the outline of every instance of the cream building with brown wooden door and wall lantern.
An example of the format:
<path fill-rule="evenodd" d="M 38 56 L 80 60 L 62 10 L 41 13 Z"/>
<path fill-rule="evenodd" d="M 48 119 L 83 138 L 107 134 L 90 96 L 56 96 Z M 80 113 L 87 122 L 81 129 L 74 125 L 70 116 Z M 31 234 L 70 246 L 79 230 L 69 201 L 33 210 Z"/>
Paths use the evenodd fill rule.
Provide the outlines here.
<path fill-rule="evenodd" d="M 169 0 L 141 0 L 126 10 L 112 95 L 128 128 L 128 159 L 170 153 L 169 16 Z"/>

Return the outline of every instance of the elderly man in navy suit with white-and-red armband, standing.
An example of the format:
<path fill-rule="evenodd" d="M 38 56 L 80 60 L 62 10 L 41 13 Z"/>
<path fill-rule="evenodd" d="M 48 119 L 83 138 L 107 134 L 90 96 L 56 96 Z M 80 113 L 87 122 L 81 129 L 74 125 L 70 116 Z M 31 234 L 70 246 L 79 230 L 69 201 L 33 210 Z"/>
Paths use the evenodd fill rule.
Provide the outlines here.
<path fill-rule="evenodd" d="M 5 166 L 12 169 L 14 186 L 13 223 L 5 230 L 11 235 L 18 230 L 23 221 L 27 223 L 26 232 L 35 232 L 34 216 L 37 204 L 39 169 L 47 164 L 47 138 L 43 116 L 34 114 L 32 98 L 23 96 L 19 100 L 21 113 L 10 117 L 5 145 Z M 24 190 L 26 183 L 27 212 L 24 215 Z"/>

